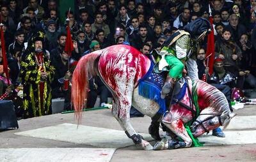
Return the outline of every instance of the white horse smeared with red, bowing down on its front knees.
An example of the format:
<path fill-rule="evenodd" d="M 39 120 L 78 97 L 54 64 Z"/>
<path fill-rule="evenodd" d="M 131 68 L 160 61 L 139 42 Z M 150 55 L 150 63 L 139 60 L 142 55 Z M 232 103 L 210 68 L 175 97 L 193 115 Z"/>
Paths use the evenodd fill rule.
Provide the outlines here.
<path fill-rule="evenodd" d="M 140 87 L 141 79 L 145 78 L 150 71 L 152 71 L 152 61 L 128 45 L 114 45 L 84 55 L 79 60 L 72 77 L 72 103 L 78 121 L 81 121 L 82 110 L 86 107 L 89 91 L 88 79 L 98 75 L 113 94 L 112 113 L 126 135 L 135 144 L 140 144 L 143 149 L 153 149 L 152 145 L 136 133 L 129 115 L 131 106 L 149 117 L 153 117 L 161 110 L 161 101 L 159 101 L 161 89 L 153 92 L 150 91 L 150 88 L 147 89 L 150 86 Z M 145 89 L 145 93 L 151 95 L 151 98 L 140 95 L 140 92 Z M 193 136 L 200 136 L 221 125 L 225 127 L 234 116 L 230 112 L 224 94 L 202 80 L 192 81 L 186 78 L 186 87 L 183 92 L 182 98 L 179 99 L 179 102 L 172 104 L 170 111 L 164 110 L 162 118 L 164 125 L 184 140 L 184 142 L 178 142 L 180 147 L 190 147 L 192 144 L 184 124 L 192 121 L 195 117 L 193 114 L 193 111 L 196 111 L 195 105 L 198 106 L 199 112 L 196 121 L 191 124 Z M 194 97 L 196 95 L 196 103 L 189 99 L 191 94 Z M 193 110 L 188 110 L 181 105 L 187 105 Z M 163 110 L 161 111 L 163 112 Z M 170 149 L 168 146 L 161 149 L 167 148 Z"/>

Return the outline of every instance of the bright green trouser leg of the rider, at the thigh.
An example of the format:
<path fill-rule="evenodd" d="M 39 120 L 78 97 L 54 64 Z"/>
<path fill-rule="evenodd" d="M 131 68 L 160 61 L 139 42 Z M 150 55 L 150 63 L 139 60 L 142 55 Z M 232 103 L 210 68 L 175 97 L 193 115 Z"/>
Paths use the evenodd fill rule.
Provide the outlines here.
<path fill-rule="evenodd" d="M 170 66 L 169 75 L 171 78 L 181 78 L 184 64 L 174 55 L 165 55 L 165 60 Z"/>

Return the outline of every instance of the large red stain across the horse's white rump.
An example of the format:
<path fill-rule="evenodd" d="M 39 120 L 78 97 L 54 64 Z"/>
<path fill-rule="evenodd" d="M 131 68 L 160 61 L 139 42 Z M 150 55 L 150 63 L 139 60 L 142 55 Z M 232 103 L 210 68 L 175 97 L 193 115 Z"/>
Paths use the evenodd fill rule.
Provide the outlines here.
<path fill-rule="evenodd" d="M 99 71 L 102 78 L 106 79 L 106 83 L 114 90 L 117 88 L 115 77 L 122 78 L 125 75 L 125 79 L 129 80 L 134 77 L 132 74 L 135 73 L 134 84 L 136 85 L 150 67 L 150 60 L 136 48 L 118 45 L 118 48 L 112 46 L 104 50 L 99 59 Z M 104 73 L 105 71 L 106 73 Z"/>

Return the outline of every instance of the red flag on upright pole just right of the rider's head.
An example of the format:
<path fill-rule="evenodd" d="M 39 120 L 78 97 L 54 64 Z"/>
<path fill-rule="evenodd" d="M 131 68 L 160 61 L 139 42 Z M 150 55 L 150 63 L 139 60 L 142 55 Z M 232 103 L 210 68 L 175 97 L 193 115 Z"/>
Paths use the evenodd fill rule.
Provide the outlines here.
<path fill-rule="evenodd" d="M 212 26 L 212 16 L 209 17 L 211 26 Z M 212 31 L 211 33 L 208 35 L 207 38 L 207 50 L 206 50 L 206 66 L 209 68 L 209 75 L 212 75 L 213 73 L 213 64 L 214 64 L 214 54 L 215 53 L 215 47 L 214 47 L 214 29 L 212 26 Z"/>

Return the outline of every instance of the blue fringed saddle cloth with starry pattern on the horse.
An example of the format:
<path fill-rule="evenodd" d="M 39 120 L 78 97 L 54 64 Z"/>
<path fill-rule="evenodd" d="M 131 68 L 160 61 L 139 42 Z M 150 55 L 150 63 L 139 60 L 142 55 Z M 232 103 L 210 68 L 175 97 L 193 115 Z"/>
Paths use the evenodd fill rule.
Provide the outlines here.
<path fill-rule="evenodd" d="M 152 99 L 159 105 L 157 113 L 164 114 L 166 112 L 166 101 L 161 98 L 161 89 L 164 85 L 164 74 L 154 72 L 154 63 L 151 62 L 150 68 L 146 75 L 139 80 L 139 95 L 144 98 Z M 186 92 L 186 84 L 182 84 L 180 91 L 173 96 L 172 103 L 176 103 L 182 99 Z"/>

